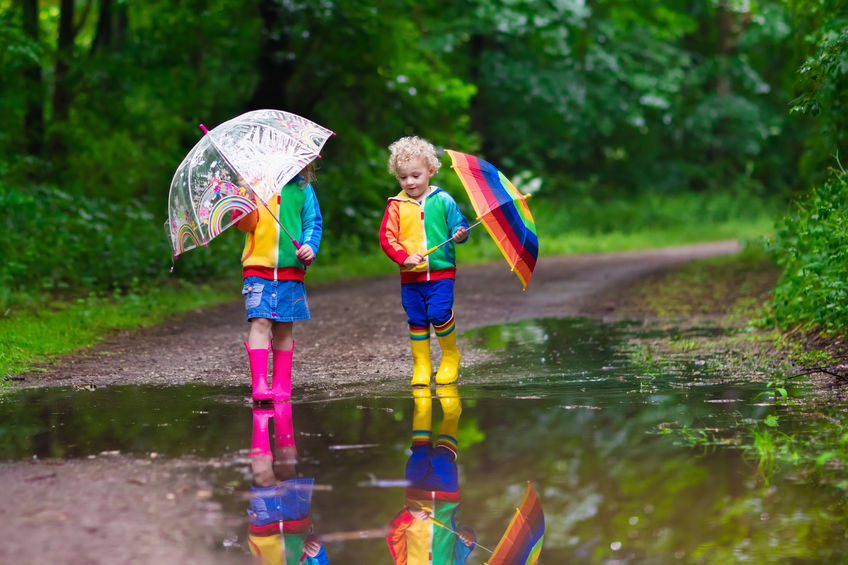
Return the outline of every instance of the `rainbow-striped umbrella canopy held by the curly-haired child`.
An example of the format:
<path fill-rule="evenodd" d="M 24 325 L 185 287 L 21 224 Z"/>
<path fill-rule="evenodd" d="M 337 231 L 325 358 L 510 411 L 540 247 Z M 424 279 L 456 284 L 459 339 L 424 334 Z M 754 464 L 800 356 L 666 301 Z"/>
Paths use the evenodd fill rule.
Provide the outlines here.
<path fill-rule="evenodd" d="M 471 199 L 477 218 L 495 240 L 524 289 L 533 275 L 539 256 L 539 238 L 527 195 L 490 163 L 451 149 L 451 168 L 459 176 Z"/>

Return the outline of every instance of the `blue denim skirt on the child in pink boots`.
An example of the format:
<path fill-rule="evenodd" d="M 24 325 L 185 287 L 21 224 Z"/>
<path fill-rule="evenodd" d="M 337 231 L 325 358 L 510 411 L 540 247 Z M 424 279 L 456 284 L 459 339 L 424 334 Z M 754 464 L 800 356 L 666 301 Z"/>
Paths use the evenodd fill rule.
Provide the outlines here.
<path fill-rule="evenodd" d="M 266 318 L 275 322 L 309 319 L 306 287 L 302 281 L 272 281 L 247 277 L 241 290 L 247 321 Z"/>

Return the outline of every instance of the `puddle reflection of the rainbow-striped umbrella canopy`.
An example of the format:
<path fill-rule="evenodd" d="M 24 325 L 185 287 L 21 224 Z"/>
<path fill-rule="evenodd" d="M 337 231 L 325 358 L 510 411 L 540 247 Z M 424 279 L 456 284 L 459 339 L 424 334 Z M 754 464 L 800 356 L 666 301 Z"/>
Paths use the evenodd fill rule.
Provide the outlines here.
<path fill-rule="evenodd" d="M 539 560 L 544 537 L 545 514 L 528 482 L 521 505 L 486 565 L 533 565 Z"/>

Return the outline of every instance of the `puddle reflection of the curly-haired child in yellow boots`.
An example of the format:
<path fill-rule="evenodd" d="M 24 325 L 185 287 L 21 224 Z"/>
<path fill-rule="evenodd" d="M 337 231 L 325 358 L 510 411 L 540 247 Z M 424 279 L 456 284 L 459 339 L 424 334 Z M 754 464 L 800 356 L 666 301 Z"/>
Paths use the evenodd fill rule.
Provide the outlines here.
<path fill-rule="evenodd" d="M 457 527 L 460 507 L 457 431 L 462 413 L 459 392 L 455 385 L 448 385 L 437 387 L 436 395 L 443 419 L 434 443 L 430 389 L 413 389 L 406 505 L 392 518 L 386 537 L 397 565 L 460 565 L 468 559 L 477 539 L 468 526 Z M 437 525 L 437 521 L 442 525 Z"/>

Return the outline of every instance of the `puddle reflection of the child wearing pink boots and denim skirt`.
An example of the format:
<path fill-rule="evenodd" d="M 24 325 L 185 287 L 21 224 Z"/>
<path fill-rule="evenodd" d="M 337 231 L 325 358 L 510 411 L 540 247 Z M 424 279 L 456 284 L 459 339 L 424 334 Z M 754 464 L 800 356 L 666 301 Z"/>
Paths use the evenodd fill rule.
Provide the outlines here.
<path fill-rule="evenodd" d="M 273 451 L 269 420 L 274 423 Z M 329 565 L 309 519 L 314 479 L 297 477 L 296 459 L 291 404 L 254 407 L 248 543 L 263 565 Z"/>

